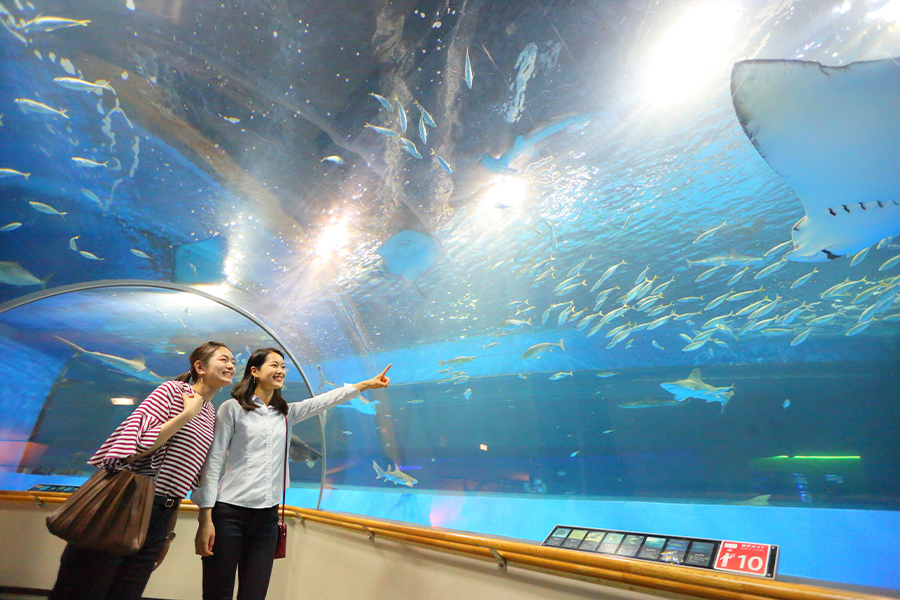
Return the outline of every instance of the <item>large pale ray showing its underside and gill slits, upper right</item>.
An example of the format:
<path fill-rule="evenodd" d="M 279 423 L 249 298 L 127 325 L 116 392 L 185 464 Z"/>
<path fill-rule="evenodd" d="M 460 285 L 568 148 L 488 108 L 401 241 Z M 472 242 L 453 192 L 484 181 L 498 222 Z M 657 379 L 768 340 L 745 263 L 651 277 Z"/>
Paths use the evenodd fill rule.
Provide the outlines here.
<path fill-rule="evenodd" d="M 741 61 L 731 98 L 806 210 L 788 260 L 835 259 L 900 233 L 900 60 Z"/>

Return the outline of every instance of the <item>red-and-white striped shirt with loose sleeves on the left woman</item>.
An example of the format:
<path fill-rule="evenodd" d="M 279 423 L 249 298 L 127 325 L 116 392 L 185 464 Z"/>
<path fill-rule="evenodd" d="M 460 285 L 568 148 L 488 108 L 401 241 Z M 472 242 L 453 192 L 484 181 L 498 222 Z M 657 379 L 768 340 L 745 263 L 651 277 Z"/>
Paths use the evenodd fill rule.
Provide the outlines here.
<path fill-rule="evenodd" d="M 125 459 L 153 446 L 162 425 L 184 410 L 181 394 L 192 392 L 187 383 L 163 383 L 119 425 L 88 464 L 105 469 L 128 469 L 150 477 L 158 472 L 157 494 L 187 496 L 199 481 L 200 468 L 212 444 L 216 410 L 210 402 L 204 402 L 200 412 L 153 454 L 132 463 Z"/>

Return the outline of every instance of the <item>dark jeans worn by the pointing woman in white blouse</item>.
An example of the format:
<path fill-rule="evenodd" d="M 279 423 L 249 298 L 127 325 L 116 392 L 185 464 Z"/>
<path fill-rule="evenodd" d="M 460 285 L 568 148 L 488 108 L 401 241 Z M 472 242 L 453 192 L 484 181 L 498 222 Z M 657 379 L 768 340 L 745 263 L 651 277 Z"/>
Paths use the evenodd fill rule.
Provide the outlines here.
<path fill-rule="evenodd" d="M 216 502 L 213 555 L 203 557 L 203 600 L 265 600 L 278 544 L 278 507 L 244 508 Z"/>

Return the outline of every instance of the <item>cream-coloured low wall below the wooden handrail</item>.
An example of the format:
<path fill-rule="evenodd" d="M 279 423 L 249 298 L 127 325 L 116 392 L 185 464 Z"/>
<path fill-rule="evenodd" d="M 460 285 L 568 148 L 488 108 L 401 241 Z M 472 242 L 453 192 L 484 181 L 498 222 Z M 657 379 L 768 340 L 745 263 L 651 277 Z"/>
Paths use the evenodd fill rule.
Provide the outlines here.
<path fill-rule="evenodd" d="M 64 542 L 44 519 L 59 505 L 0 501 L 0 586 L 50 589 Z M 148 598 L 200 598 L 200 559 L 194 555 L 196 513 L 182 512 L 178 539 L 153 574 Z M 377 539 L 319 523 L 288 524 L 288 557 L 275 561 L 270 599 L 537 600 L 609 598 L 658 600 L 596 583 Z"/>

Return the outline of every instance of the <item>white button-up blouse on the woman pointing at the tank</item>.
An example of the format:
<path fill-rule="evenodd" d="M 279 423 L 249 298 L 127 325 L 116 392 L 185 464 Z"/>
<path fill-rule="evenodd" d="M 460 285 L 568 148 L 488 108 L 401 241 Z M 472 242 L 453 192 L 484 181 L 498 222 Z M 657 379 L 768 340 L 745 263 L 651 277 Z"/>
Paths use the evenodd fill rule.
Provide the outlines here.
<path fill-rule="evenodd" d="M 288 426 L 358 395 L 355 387 L 345 384 L 307 400 L 291 402 Z M 253 401 L 257 404 L 254 410 L 244 410 L 234 398 L 219 407 L 212 447 L 200 471 L 200 484 L 191 494 L 197 506 L 211 508 L 218 500 L 245 508 L 271 508 L 281 501 L 284 415 L 256 396 Z"/>

